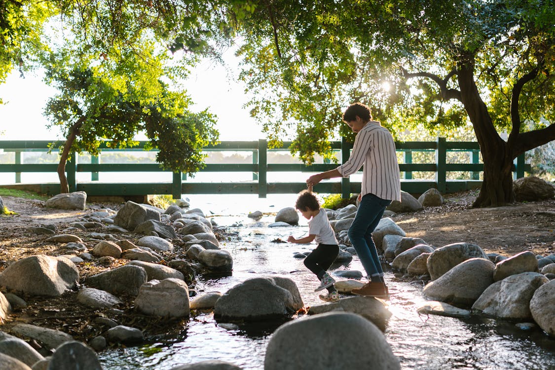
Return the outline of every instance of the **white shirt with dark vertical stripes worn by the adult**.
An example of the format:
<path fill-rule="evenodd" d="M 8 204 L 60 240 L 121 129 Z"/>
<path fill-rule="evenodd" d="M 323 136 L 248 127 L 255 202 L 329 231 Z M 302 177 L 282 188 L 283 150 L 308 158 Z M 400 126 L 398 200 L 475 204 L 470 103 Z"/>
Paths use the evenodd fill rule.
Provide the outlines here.
<path fill-rule="evenodd" d="M 344 178 L 362 170 L 361 196 L 401 201 L 401 179 L 395 141 L 379 122 L 370 121 L 356 134 L 351 156 L 337 171 Z"/>

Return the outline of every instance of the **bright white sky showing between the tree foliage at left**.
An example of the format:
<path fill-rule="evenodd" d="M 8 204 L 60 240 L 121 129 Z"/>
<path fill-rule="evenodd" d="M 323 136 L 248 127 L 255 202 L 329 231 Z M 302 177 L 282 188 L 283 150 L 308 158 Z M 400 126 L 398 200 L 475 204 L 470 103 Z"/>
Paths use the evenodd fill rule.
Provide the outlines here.
<path fill-rule="evenodd" d="M 225 55 L 229 68 L 236 68 L 234 55 Z M 230 80 L 223 65 L 206 60 L 191 71 L 186 81 L 189 95 L 195 105 L 193 110 L 210 108 L 218 116 L 216 128 L 220 140 L 251 141 L 263 139 L 260 127 L 251 118 L 243 105 L 248 101 L 244 87 Z M 60 139 L 59 131 L 46 128 L 48 120 L 42 115 L 48 98 L 56 89 L 42 82 L 41 76 L 33 73 L 19 77 L 14 72 L 0 84 L 0 140 L 54 140 Z M 144 138 L 138 138 L 144 139 Z"/>

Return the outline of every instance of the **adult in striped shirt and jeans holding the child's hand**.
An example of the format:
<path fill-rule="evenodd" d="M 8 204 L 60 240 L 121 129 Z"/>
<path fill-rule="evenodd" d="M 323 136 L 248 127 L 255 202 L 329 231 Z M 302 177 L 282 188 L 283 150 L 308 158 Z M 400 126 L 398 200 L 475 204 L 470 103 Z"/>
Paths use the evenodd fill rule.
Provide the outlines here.
<path fill-rule="evenodd" d="M 372 240 L 372 232 L 391 201 L 401 201 L 395 141 L 390 131 L 378 121 L 372 120 L 370 108 L 362 103 L 351 104 L 345 110 L 343 120 L 356 133 L 349 160 L 335 170 L 310 176 L 306 184 L 312 186 L 324 179 L 349 177 L 364 165 L 360 204 L 347 235 L 364 266 L 369 282 L 352 292 L 362 296 L 388 298 L 384 271 Z"/>

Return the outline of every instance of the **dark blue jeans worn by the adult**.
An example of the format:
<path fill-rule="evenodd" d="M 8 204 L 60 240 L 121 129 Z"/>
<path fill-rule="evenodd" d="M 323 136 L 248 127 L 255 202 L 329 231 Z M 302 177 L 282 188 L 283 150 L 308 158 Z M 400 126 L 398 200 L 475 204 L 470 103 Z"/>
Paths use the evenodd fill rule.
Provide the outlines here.
<path fill-rule="evenodd" d="M 381 199 L 374 194 L 363 196 L 355 220 L 347 233 L 369 278 L 384 275 L 376 245 L 372 240 L 372 231 L 376 229 L 385 208 L 390 204 L 391 200 Z"/>

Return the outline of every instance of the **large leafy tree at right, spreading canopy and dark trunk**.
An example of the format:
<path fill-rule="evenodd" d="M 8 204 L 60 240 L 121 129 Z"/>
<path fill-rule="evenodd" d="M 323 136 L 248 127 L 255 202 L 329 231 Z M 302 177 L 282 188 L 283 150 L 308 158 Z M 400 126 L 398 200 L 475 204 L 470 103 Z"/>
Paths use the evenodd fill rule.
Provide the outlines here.
<path fill-rule="evenodd" d="M 251 114 L 274 141 L 294 129 L 292 150 L 307 163 L 329 153 L 351 102 L 392 129 L 470 122 L 484 162 L 474 206 L 512 202 L 513 160 L 555 139 L 552 9 L 552 0 L 262 2 L 241 23 Z M 340 133 L 349 136 L 345 125 Z"/>

